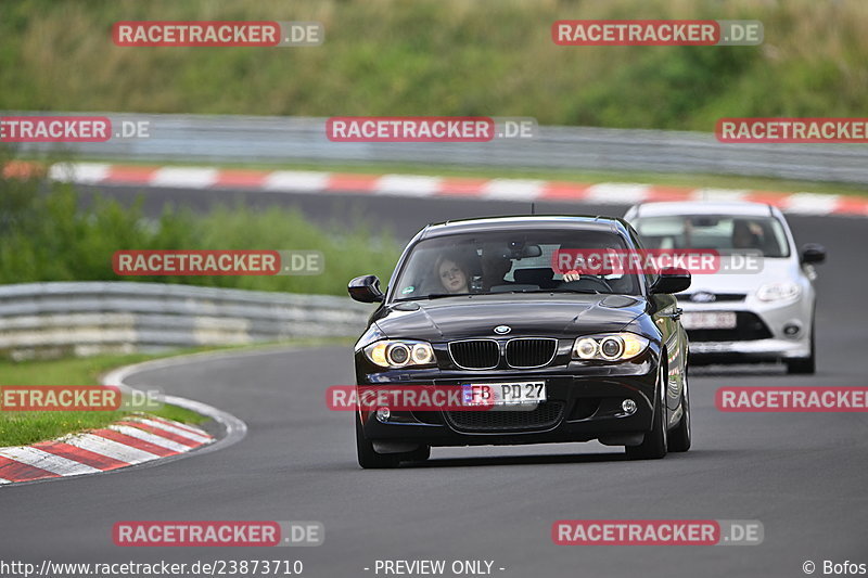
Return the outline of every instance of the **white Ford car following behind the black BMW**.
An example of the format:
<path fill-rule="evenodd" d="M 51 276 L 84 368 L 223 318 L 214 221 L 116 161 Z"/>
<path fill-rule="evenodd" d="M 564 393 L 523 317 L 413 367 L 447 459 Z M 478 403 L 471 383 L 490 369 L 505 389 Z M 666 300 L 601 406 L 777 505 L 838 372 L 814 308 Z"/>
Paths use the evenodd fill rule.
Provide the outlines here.
<path fill-rule="evenodd" d="M 789 373 L 814 373 L 814 265 L 826 249 L 807 244 L 797 252 L 780 210 L 760 203 L 644 203 L 624 218 L 646 248 L 714 251 L 730 269 L 694 274 L 677 295 L 691 361 L 783 361 Z M 748 258 L 758 267 L 745 266 Z"/>

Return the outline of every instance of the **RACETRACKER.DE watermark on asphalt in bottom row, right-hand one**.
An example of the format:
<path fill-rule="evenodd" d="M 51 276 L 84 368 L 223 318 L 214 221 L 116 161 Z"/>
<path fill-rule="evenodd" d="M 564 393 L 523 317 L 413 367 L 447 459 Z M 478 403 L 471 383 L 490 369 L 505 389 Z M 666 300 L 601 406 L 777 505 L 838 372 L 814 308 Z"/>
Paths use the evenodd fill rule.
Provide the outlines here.
<path fill-rule="evenodd" d="M 551 540 L 559 545 L 757 545 L 758 519 L 559 519 Z"/>

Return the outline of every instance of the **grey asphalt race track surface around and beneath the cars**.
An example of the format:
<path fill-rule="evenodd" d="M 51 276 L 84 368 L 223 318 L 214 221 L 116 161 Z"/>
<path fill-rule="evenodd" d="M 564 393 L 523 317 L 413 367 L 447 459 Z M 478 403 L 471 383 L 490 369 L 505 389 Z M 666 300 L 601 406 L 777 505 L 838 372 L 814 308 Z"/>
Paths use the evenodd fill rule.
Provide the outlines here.
<path fill-rule="evenodd" d="M 256 196 L 255 202 L 276 202 Z M 528 208 L 463 200 L 275 197 L 319 220 L 361 216 L 391 226 L 401 239 L 430 220 Z M 194 206 L 213 200 L 210 193 L 191 194 Z M 333 213 L 335 206 L 345 208 Z M 621 215 L 624 209 L 537 205 L 537 213 Z M 374 576 L 376 560 L 446 560 L 447 565 L 489 560 L 495 576 L 513 578 L 796 577 L 804 576 L 808 560 L 817 564 L 816 575 L 825 560 L 868 562 L 868 415 L 737 414 L 714 407 L 714 393 L 725 385 L 868 384 L 868 221 L 791 216 L 790 222 L 800 244 L 818 242 L 829 251 L 819 267 L 818 373 L 790 377 L 774 367 L 697 369 L 688 453 L 628 462 L 622 450 L 596 442 L 435 448 L 423 465 L 362 471 L 355 461 L 352 414 L 329 411 L 324 400 L 328 386 L 353 383 L 348 347 L 237 355 L 139 373 L 129 383 L 158 385 L 231 412 L 247 423 L 243 440 L 154 467 L 2 488 L 1 548 L 13 553 L 7 558 L 37 564 L 47 556 L 53 562 L 297 558 L 304 561 L 304 576 L 323 578 Z M 765 541 L 554 545 L 551 525 L 563 518 L 758 519 Z M 114 523 L 143 519 L 319 521 L 326 540 L 318 548 L 294 549 L 113 544 Z"/>

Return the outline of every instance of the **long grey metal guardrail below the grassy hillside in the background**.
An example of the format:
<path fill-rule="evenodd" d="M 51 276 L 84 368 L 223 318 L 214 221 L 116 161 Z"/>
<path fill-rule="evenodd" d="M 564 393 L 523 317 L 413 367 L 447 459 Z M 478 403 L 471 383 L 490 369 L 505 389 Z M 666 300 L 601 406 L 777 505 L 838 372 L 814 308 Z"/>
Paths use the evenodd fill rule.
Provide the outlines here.
<path fill-rule="evenodd" d="M 82 113 L 0 113 L 0 115 Z M 137 160 L 421 163 L 778 177 L 868 184 L 859 144 L 725 144 L 713 134 L 666 130 L 539 127 L 534 140 L 484 143 L 337 143 L 326 118 L 88 113 L 114 123 L 148 120 L 150 138 L 65 146 L 84 155 Z M 48 151 L 51 144 L 23 144 Z"/>

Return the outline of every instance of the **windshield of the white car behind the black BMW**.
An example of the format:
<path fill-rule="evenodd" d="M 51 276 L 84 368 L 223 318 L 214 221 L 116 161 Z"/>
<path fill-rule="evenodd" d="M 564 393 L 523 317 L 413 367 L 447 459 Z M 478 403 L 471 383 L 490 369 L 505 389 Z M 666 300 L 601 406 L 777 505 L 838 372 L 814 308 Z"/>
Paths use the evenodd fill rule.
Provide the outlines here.
<path fill-rule="evenodd" d="M 722 255 L 751 252 L 789 257 L 790 245 L 774 217 L 740 215 L 672 215 L 641 217 L 633 226 L 646 248 L 713 249 Z"/>

